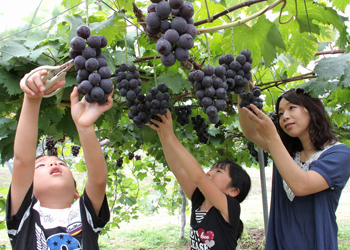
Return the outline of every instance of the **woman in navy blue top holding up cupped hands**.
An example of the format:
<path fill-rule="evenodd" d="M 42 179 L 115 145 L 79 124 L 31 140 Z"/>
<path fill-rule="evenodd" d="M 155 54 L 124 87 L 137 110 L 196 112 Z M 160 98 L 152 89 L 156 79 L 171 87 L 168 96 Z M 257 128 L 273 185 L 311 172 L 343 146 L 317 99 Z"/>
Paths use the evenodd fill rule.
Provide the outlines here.
<path fill-rule="evenodd" d="M 302 89 L 276 103 L 277 129 L 256 106 L 239 109 L 244 135 L 274 160 L 265 249 L 338 249 L 336 209 L 350 176 L 350 148 L 336 141 L 319 99 Z"/>

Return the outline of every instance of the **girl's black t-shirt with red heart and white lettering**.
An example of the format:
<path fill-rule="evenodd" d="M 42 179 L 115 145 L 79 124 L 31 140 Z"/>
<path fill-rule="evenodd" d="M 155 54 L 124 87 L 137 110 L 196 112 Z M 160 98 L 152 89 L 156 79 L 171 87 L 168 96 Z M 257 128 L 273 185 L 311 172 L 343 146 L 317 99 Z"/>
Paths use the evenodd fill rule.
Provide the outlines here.
<path fill-rule="evenodd" d="M 214 206 L 209 209 L 202 222 L 197 223 L 195 211 L 202 205 L 204 196 L 198 188 L 194 191 L 192 195 L 190 230 L 190 245 L 192 250 L 236 249 L 241 207 L 236 198 L 228 195 L 226 197 L 230 223 L 222 217 L 221 212 Z"/>

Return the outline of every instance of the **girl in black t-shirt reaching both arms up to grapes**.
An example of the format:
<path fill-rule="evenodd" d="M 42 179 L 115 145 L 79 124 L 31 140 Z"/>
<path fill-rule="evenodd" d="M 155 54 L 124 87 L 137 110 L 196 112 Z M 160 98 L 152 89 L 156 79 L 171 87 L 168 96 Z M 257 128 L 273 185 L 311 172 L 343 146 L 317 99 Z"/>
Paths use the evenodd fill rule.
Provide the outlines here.
<path fill-rule="evenodd" d="M 240 202 L 248 195 L 251 181 L 232 161 L 220 161 L 207 173 L 176 138 L 171 113 L 155 125 L 171 171 L 192 201 L 191 249 L 235 249 L 243 231 Z"/>

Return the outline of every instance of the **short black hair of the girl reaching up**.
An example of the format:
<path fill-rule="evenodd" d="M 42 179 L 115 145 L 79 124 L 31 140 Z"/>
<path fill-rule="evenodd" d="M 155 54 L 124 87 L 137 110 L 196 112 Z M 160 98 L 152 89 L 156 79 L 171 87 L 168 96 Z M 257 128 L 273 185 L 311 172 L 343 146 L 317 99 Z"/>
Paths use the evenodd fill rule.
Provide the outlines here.
<path fill-rule="evenodd" d="M 230 160 L 219 161 L 213 167 L 220 169 L 229 168 L 231 181 L 228 185 L 229 187 L 239 189 L 239 194 L 235 198 L 239 203 L 244 201 L 251 187 L 251 180 L 248 173 L 240 165 Z"/>

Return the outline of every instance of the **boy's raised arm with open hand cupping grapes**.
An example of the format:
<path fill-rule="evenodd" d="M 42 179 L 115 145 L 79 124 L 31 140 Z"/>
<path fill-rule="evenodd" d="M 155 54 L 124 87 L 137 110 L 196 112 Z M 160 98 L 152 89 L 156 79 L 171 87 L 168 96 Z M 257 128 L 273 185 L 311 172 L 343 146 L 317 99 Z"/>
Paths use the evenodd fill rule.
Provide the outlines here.
<path fill-rule="evenodd" d="M 79 134 L 88 172 L 85 191 L 97 215 L 105 197 L 108 171 L 96 137 L 94 122 L 103 112 L 112 107 L 112 94 L 113 92 L 109 94 L 107 103 L 103 105 L 97 102 L 88 103 L 85 98 L 79 101 L 77 87 L 73 89 L 70 96 L 72 118 Z"/>

